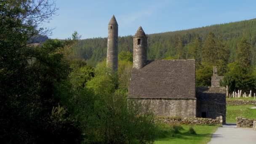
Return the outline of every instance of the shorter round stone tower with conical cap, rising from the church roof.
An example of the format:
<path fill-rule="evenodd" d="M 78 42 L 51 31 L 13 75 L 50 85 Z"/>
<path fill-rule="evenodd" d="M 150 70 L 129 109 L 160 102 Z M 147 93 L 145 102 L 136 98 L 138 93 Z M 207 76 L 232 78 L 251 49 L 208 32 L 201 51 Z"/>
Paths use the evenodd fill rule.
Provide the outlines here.
<path fill-rule="evenodd" d="M 139 27 L 133 37 L 133 67 L 141 69 L 147 64 L 147 36 Z"/>

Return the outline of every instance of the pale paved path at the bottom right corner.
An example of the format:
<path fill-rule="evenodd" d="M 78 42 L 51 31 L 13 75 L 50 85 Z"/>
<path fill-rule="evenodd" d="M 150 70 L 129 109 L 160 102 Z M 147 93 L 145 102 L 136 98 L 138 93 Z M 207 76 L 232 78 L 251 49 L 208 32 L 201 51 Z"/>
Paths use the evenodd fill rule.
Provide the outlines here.
<path fill-rule="evenodd" d="M 208 144 L 256 144 L 256 131 L 252 128 L 236 128 L 236 124 L 226 124 L 213 133 Z"/>

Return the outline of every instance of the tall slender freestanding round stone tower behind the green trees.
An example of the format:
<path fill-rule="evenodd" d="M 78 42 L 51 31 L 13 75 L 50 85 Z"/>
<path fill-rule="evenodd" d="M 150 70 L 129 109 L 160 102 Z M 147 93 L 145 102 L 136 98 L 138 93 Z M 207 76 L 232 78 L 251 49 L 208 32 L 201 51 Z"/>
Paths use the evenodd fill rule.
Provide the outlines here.
<path fill-rule="evenodd" d="M 112 72 L 117 72 L 117 43 L 118 39 L 118 24 L 115 16 L 113 15 L 108 25 L 108 38 L 107 38 L 107 67 Z"/>

